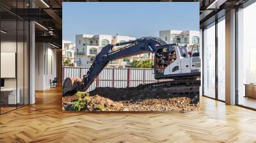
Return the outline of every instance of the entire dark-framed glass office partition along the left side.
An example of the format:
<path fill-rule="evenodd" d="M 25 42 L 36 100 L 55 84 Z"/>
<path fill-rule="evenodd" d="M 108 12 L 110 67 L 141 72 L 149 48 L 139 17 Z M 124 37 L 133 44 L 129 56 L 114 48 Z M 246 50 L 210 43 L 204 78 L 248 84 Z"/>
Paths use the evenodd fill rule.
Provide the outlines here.
<path fill-rule="evenodd" d="M 28 8 L 28 1 L 0 4 Z M 0 30 L 0 114 L 3 114 L 29 104 L 29 22 L 0 8 Z"/>

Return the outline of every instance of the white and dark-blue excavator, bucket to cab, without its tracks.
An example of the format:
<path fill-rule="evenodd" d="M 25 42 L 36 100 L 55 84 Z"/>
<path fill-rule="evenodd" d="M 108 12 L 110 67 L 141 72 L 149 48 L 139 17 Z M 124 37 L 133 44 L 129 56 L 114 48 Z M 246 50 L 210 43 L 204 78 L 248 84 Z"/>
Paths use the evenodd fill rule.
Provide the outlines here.
<path fill-rule="evenodd" d="M 122 45 L 125 45 L 125 47 L 113 51 L 113 47 Z M 188 51 L 186 45 L 167 44 L 160 38 L 154 37 L 143 37 L 133 41 L 108 44 L 97 54 L 92 66 L 86 75 L 83 75 L 82 81 L 72 82 L 70 78 L 63 81 L 63 96 L 73 95 L 78 91 L 86 91 L 109 61 L 147 52 L 155 55 L 155 79 L 198 78 L 200 77 L 199 50 L 194 49 L 193 51 L 197 52 Z"/>

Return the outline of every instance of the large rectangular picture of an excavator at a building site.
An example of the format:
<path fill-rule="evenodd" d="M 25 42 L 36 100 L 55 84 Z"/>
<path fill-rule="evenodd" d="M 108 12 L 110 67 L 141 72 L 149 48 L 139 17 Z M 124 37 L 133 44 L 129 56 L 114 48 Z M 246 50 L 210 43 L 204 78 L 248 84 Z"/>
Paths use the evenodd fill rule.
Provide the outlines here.
<path fill-rule="evenodd" d="M 191 3 L 63 3 L 63 110 L 198 111 L 199 3 L 192 5 L 186 10 Z M 100 13 L 113 14 L 109 6 L 123 17 L 99 21 Z M 71 10 L 87 19 L 72 17 Z M 138 15 L 142 10 L 147 14 Z"/>

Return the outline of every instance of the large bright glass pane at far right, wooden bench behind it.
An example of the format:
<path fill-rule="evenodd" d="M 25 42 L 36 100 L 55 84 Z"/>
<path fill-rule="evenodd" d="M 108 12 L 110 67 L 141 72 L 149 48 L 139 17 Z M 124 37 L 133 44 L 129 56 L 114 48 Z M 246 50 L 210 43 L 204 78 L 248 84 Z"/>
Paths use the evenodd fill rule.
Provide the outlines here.
<path fill-rule="evenodd" d="M 237 90 L 239 105 L 256 109 L 256 3 L 237 12 Z"/>

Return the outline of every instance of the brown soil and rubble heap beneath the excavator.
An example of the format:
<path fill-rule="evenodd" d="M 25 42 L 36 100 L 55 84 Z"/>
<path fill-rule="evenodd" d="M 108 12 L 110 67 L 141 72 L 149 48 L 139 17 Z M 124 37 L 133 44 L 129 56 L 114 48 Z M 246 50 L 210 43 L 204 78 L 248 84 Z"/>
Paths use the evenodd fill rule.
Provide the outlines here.
<path fill-rule="evenodd" d="M 84 96 L 63 97 L 63 110 L 74 110 L 85 101 L 83 111 L 175 111 L 199 110 L 198 94 L 172 94 L 163 89 L 97 87 Z"/>

